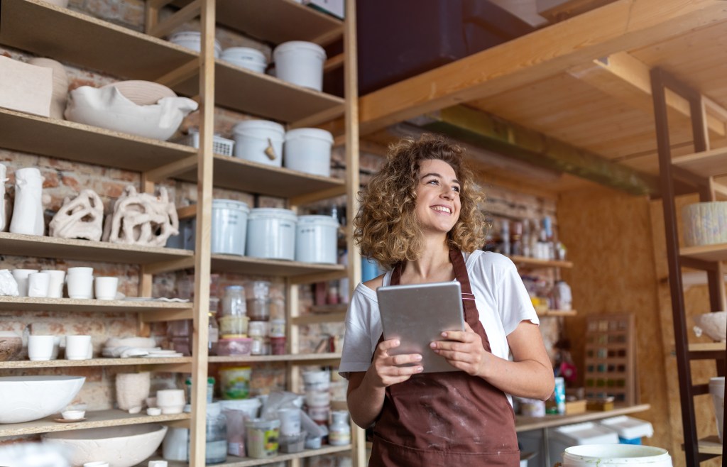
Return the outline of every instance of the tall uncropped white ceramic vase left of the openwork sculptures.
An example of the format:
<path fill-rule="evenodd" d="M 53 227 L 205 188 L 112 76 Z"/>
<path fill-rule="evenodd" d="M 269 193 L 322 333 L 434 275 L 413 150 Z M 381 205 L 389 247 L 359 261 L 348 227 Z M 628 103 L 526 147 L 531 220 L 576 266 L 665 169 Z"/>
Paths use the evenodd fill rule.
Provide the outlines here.
<path fill-rule="evenodd" d="M 15 171 L 15 204 L 12 208 L 10 232 L 43 235 L 43 180 L 35 167 Z"/>

